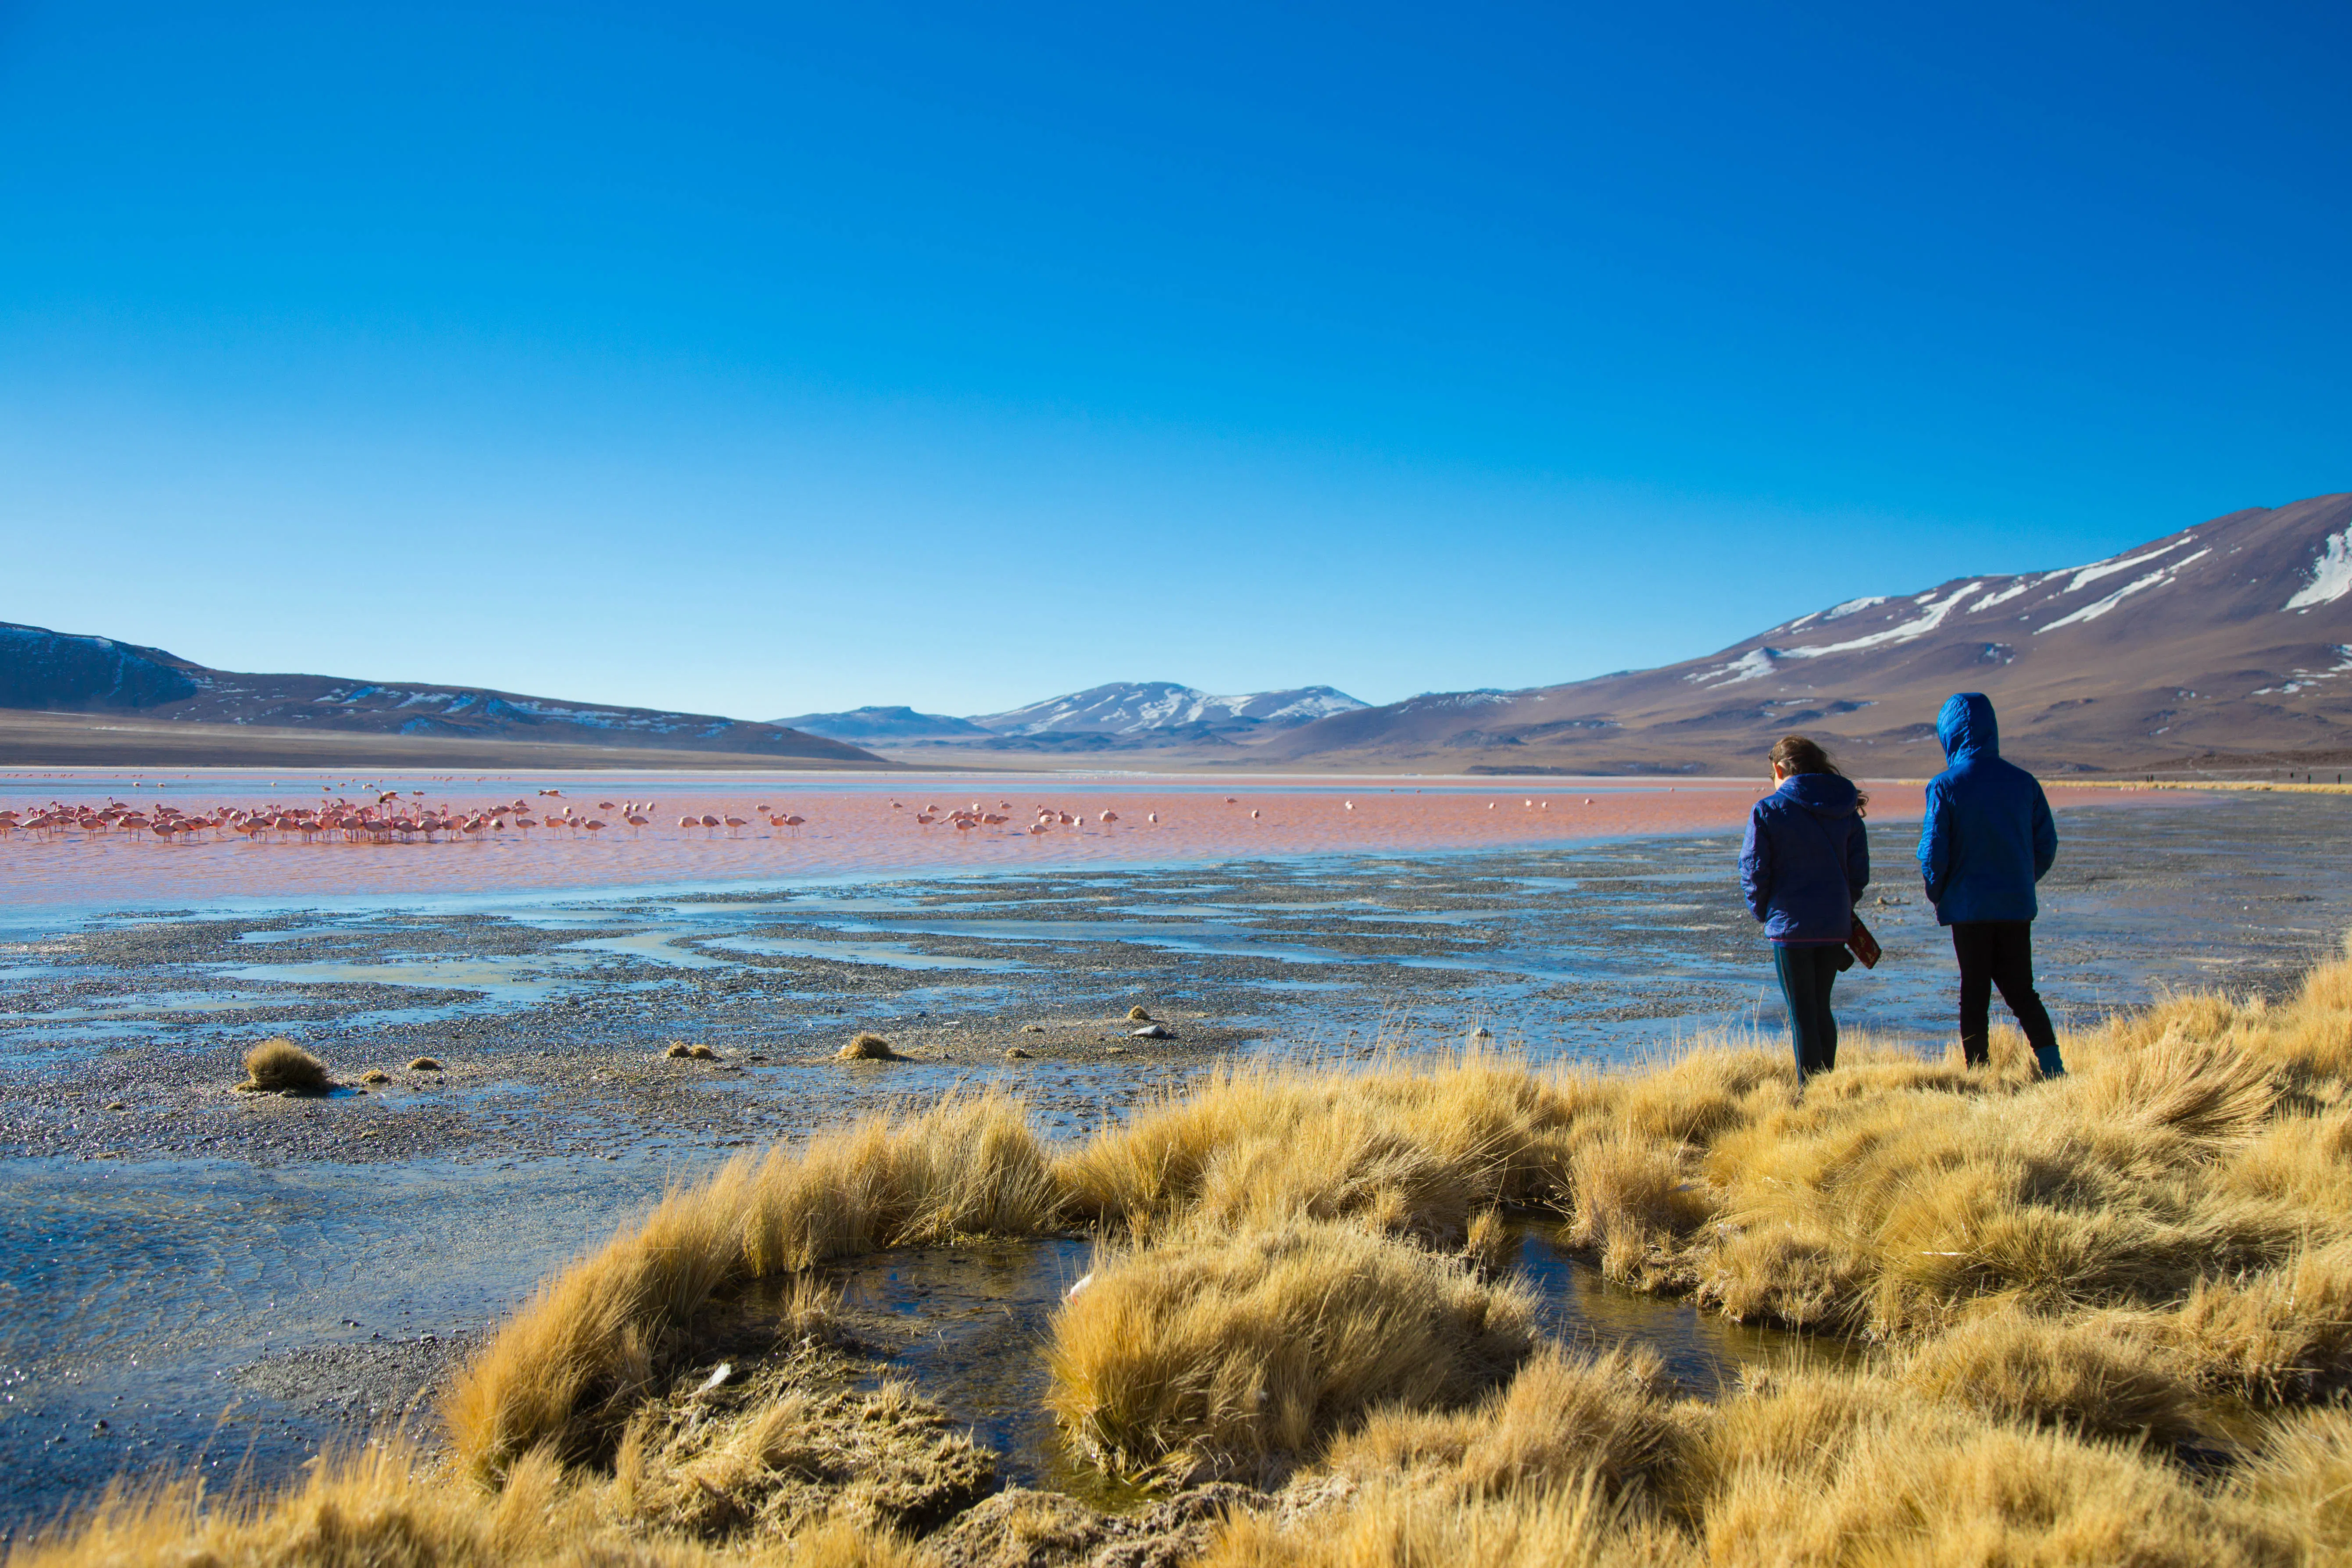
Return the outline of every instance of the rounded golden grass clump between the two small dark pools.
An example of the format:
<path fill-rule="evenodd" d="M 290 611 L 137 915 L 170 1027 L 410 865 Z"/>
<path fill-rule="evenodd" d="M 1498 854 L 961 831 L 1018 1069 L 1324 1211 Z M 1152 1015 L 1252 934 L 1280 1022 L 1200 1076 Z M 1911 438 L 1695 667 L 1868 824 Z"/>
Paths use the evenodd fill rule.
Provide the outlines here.
<path fill-rule="evenodd" d="M 1355 1225 L 1117 1253 L 1054 1316 L 1047 1399 L 1122 1474 L 1261 1474 L 1378 1403 L 1468 1403 L 1534 1349 L 1534 1300 Z"/>

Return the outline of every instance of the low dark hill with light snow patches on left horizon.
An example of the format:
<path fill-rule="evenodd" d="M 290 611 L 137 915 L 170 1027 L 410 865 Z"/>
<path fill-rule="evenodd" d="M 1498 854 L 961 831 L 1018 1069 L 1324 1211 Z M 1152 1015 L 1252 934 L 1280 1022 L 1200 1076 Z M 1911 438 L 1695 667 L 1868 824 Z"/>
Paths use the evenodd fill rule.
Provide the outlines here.
<path fill-rule="evenodd" d="M 0 710 L 136 715 L 270 731 L 508 741 L 887 766 L 779 724 L 564 703 L 480 686 L 207 670 L 162 649 L 0 623 Z"/>

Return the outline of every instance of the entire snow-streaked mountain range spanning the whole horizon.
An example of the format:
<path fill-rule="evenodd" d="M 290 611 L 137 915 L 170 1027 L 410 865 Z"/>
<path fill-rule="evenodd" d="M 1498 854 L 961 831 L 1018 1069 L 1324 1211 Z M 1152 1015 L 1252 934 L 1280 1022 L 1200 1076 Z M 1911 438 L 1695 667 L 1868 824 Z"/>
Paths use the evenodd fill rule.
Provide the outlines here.
<path fill-rule="evenodd" d="M 1115 682 L 976 717 L 856 708 L 748 724 L 477 686 L 238 675 L 0 623 L 0 759 L 327 764 L 341 752 L 322 738 L 348 736 L 343 750 L 369 757 L 393 743 L 419 762 L 433 745 L 468 757 L 452 766 L 614 766 L 616 752 L 659 750 L 875 766 L 873 745 L 941 762 L 1152 752 L 1164 766 L 1616 773 L 1759 769 L 1776 736 L 1802 729 L 1860 771 L 1917 776 L 1940 764 L 1936 708 L 1969 689 L 1999 708 L 2004 750 L 2039 769 L 2241 766 L 2279 752 L 2345 752 L 2336 766 L 2347 766 L 2352 494 L 2230 512 L 2084 567 L 1865 595 L 1658 670 L 1383 708 L 1331 686 L 1209 696 Z M 200 726 L 221 741 L 188 741 Z"/>

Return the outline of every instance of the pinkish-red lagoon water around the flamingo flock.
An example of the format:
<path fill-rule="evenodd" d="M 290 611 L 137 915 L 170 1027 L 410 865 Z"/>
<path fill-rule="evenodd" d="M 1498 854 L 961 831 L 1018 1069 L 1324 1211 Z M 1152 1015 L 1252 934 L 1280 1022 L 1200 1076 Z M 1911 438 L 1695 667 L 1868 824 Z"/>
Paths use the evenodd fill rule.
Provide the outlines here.
<path fill-rule="evenodd" d="M 52 802 L 103 809 L 158 804 L 195 816 L 294 806 L 379 806 L 407 816 L 473 813 L 517 799 L 539 827 L 407 835 L 212 830 L 158 839 L 78 825 L 0 835 L 0 896 L 19 905 L 118 900 L 487 893 L 654 884 L 844 877 L 861 872 L 1028 870 L 1235 856 L 1425 853 L 1505 849 L 1653 832 L 1722 832 L 1748 818 L 1764 783 L 1548 778 L 1430 783 L 1411 778 L 1070 778 L 1070 776 L 826 776 L 727 773 L 482 776 L 353 780 L 327 773 L 0 773 L 0 809 L 31 818 Z M 136 788 L 134 788 L 136 785 Z M 560 790 L 560 795 L 541 795 Z M 1919 816 L 1919 785 L 1877 783 L 1875 820 Z M 635 802 L 647 827 L 628 827 Z M 572 809 L 602 830 L 548 827 Z M 922 825 L 917 816 L 978 809 L 1002 823 Z M 1054 820 L 1030 832 L 1040 811 Z M 680 827 L 682 816 L 743 827 Z M 1110 813 L 1115 820 L 1105 820 Z M 800 816 L 800 827 L 767 818 Z M 1075 818 L 1061 823 L 1061 816 Z M 1157 818 L 1157 820 L 1155 820 Z"/>

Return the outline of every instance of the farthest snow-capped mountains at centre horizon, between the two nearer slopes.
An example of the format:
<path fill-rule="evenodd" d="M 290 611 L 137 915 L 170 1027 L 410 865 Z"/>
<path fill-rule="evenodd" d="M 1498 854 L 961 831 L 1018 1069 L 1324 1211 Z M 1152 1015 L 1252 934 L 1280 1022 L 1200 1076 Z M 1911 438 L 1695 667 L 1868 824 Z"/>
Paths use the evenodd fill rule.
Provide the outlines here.
<path fill-rule="evenodd" d="M 1112 682 L 1007 712 L 953 719 L 913 708 L 851 708 L 776 719 L 811 736 L 877 745 L 962 745 L 969 750 L 1110 752 L 1235 748 L 1364 703 L 1331 686 L 1209 696 L 1176 682 Z"/>

